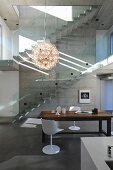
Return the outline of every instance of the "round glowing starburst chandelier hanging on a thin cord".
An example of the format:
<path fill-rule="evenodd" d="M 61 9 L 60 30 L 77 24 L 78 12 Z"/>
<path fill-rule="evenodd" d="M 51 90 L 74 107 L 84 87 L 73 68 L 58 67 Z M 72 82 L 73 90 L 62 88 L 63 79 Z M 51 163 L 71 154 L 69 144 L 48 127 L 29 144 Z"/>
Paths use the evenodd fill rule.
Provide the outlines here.
<path fill-rule="evenodd" d="M 44 41 L 32 47 L 31 58 L 39 69 L 51 70 L 59 62 L 59 51 L 55 45 Z"/>

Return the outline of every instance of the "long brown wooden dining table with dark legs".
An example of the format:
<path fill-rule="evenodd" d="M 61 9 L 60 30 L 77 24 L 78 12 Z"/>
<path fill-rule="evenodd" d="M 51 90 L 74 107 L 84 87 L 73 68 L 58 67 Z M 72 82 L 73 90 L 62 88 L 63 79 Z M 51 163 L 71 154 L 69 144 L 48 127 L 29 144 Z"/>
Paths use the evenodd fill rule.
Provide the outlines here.
<path fill-rule="evenodd" d="M 98 131 L 68 131 L 68 132 L 61 132 L 67 134 L 104 134 L 106 136 L 111 136 L 111 118 L 113 114 L 110 112 L 99 111 L 97 114 L 92 114 L 88 111 L 83 111 L 80 113 L 76 113 L 75 111 L 66 111 L 66 113 L 52 113 L 51 111 L 42 111 L 40 113 L 40 118 L 47 119 L 47 120 L 55 120 L 55 121 L 98 121 L 99 128 Z M 102 121 L 107 122 L 106 131 L 102 129 Z M 45 135 L 42 131 L 42 140 L 45 140 Z"/>

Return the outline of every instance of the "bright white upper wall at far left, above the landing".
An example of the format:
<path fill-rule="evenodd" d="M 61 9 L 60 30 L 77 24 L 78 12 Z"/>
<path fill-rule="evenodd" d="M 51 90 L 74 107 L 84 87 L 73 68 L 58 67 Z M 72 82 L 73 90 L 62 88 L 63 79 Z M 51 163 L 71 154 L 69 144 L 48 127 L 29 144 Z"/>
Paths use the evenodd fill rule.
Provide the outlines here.
<path fill-rule="evenodd" d="M 12 59 L 12 33 L 1 17 L 0 25 L 2 26 L 2 56 L 0 56 L 0 60 Z"/>

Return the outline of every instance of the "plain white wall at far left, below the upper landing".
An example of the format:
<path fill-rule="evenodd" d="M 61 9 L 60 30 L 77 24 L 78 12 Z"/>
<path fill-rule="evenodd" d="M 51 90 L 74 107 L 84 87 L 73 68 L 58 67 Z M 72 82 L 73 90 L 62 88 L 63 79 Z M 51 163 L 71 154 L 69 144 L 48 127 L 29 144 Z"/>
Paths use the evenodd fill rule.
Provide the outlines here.
<path fill-rule="evenodd" d="M 0 72 L 0 116 L 9 117 L 19 113 L 19 72 Z"/>

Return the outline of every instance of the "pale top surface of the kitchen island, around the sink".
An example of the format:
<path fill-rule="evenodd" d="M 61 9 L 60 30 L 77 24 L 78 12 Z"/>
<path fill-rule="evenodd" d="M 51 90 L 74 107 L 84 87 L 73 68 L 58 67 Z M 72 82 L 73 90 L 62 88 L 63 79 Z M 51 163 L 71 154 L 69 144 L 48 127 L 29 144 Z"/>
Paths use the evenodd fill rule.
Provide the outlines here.
<path fill-rule="evenodd" d="M 105 161 L 113 160 L 113 148 L 111 149 L 111 158 L 107 155 L 107 146 L 113 146 L 113 137 L 83 137 L 81 141 L 97 169 L 110 170 Z"/>

